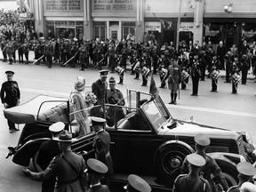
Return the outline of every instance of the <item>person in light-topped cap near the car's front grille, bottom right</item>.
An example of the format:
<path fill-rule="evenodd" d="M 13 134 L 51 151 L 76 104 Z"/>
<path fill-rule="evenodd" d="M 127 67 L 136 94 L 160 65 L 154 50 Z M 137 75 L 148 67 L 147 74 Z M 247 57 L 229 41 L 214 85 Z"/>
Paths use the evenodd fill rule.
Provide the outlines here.
<path fill-rule="evenodd" d="M 254 166 L 248 162 L 240 162 L 236 165 L 236 169 L 239 172 L 238 180 L 239 183 L 237 186 L 228 188 L 227 192 L 239 192 L 239 188 L 244 184 L 244 182 L 252 181 L 253 175 L 256 174 L 256 169 Z"/>

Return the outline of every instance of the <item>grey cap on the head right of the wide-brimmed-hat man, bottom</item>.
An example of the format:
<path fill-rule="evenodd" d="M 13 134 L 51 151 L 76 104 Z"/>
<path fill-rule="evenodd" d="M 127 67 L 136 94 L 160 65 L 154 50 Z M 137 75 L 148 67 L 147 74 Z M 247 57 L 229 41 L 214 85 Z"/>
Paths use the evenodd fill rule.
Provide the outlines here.
<path fill-rule="evenodd" d="M 108 172 L 108 167 L 97 159 L 89 158 L 87 160 L 88 170 L 92 174 L 105 174 Z"/>

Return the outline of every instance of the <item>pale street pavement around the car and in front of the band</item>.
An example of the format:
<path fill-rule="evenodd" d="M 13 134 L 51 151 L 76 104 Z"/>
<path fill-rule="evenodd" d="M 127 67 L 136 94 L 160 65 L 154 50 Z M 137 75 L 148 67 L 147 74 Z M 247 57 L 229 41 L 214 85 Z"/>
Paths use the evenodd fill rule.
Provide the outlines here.
<path fill-rule="evenodd" d="M 1 55 L 2 56 L 2 55 Z M 32 58 L 32 57 L 30 57 Z M 1 57 L 0 57 L 1 59 Z M 107 67 L 105 67 L 107 68 Z M 51 94 L 67 96 L 74 89 L 74 83 L 77 76 L 84 76 L 88 88 L 86 91 L 91 91 L 91 85 L 96 81 L 100 75 L 95 68 L 87 68 L 85 71 L 80 71 L 78 67 L 70 68 L 66 66 L 61 68 L 58 65 L 53 65 L 52 68 L 47 68 L 44 64 L 37 66 L 31 62 L 26 64 L 15 63 L 8 65 L 0 60 L 0 82 L 6 80 L 4 71 L 13 70 L 15 72 L 13 80 L 19 83 L 21 91 L 21 103 L 24 103 L 38 94 Z M 131 71 L 127 70 L 124 73 L 124 84 L 116 84 L 116 88 L 127 94 L 127 88 L 139 90 L 140 92 L 149 92 L 150 77 L 148 77 L 148 86 L 140 86 L 140 80 L 133 79 L 130 75 Z M 224 71 L 221 72 L 224 74 Z M 116 77 L 116 74 L 109 74 L 108 77 Z M 157 87 L 159 87 L 159 76 L 155 75 Z M 211 91 L 211 80 L 205 79 L 200 81 L 199 92 L 197 97 L 192 97 L 192 84 L 189 79 L 187 90 L 180 90 L 180 100 L 177 105 L 170 105 L 170 91 L 158 88 L 159 95 L 166 103 L 174 118 L 181 120 L 189 120 L 193 116 L 194 121 L 218 126 L 221 128 L 228 128 L 231 130 L 249 132 L 252 139 L 256 140 L 255 124 L 256 124 L 256 83 L 253 83 L 253 76 L 246 85 L 238 84 L 238 94 L 231 94 L 231 84 L 224 84 L 224 76 L 222 75 L 218 84 L 218 92 Z M 3 105 L 0 109 L 4 109 Z M 0 124 L 2 132 L 0 134 L 0 192 L 13 191 L 40 191 L 40 182 L 29 180 L 24 177 L 19 165 L 12 163 L 12 158 L 5 159 L 7 147 L 9 145 L 15 146 L 19 140 L 20 132 L 10 134 L 8 132 L 7 123 L 4 119 L 3 113 L 0 114 Z M 22 124 L 20 124 L 22 129 Z M 30 165 L 30 168 L 33 167 Z"/>

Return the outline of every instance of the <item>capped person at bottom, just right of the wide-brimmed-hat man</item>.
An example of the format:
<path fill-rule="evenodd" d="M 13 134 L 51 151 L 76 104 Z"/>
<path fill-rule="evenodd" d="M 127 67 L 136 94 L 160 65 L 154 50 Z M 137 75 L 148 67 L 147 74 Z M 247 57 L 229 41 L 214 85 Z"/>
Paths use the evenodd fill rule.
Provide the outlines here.
<path fill-rule="evenodd" d="M 108 172 L 107 165 L 93 158 L 87 160 L 87 165 L 88 180 L 91 183 L 88 192 L 108 192 L 108 186 L 101 185 L 100 183 L 101 178 Z"/>

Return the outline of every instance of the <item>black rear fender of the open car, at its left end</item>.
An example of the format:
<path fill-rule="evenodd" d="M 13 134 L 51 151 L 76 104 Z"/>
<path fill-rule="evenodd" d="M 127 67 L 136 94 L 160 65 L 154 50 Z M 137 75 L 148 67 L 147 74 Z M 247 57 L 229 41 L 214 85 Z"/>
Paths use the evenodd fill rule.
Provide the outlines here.
<path fill-rule="evenodd" d="M 36 140 L 28 140 L 25 144 L 16 149 L 16 153 L 12 158 L 12 162 L 14 164 L 20 164 L 21 166 L 28 167 L 30 159 L 36 154 L 36 151 L 40 148 L 41 144 L 46 140 L 51 139 L 40 138 Z"/>

